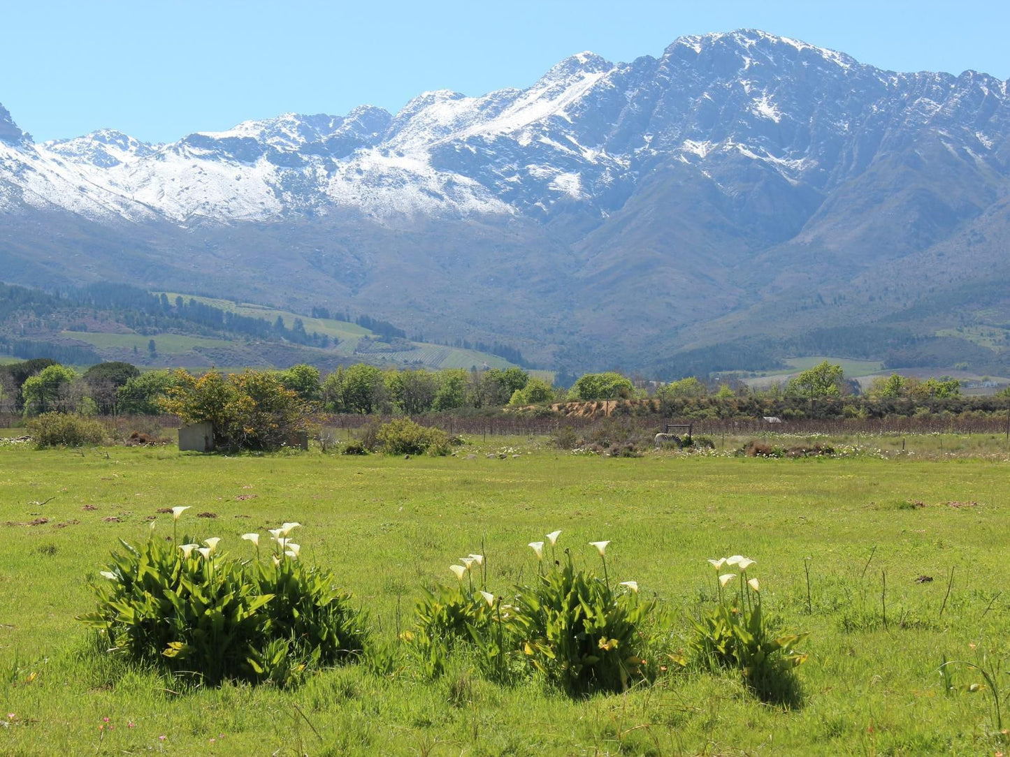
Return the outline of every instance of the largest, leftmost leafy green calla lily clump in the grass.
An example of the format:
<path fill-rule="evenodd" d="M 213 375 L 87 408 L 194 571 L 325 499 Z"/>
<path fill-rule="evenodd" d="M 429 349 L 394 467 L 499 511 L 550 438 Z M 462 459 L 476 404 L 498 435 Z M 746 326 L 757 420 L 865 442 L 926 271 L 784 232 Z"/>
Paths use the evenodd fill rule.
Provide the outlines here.
<path fill-rule="evenodd" d="M 98 609 L 78 620 L 130 661 L 206 683 L 285 686 L 362 649 L 363 617 L 349 596 L 329 571 L 302 565 L 286 539 L 264 562 L 153 536 L 139 547 L 121 543 L 125 553 L 113 552 L 93 586 Z"/>

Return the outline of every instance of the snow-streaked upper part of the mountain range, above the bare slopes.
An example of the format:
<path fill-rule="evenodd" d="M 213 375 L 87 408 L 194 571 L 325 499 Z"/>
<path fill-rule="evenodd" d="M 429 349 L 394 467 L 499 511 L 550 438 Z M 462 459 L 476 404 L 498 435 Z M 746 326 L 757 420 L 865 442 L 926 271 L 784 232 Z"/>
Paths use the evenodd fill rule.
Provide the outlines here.
<path fill-rule="evenodd" d="M 74 212 L 183 223 L 336 207 L 376 218 L 536 215 L 574 202 L 606 213 L 665 156 L 704 176 L 736 175 L 750 160 L 826 191 L 865 168 L 885 138 L 977 116 L 983 100 L 993 106 L 986 113 L 1006 113 L 1006 83 L 973 73 L 897 75 L 737 29 L 683 36 L 660 59 L 630 64 L 578 52 L 525 89 L 479 97 L 432 90 L 395 115 L 367 105 L 345 116 L 285 113 L 166 145 L 111 129 L 33 145 L 0 106 L 0 146 L 11 155 L 0 160 L 0 185 Z M 1001 118 L 973 122 L 971 148 L 988 152 L 985 145 L 1007 138 L 1001 124 L 1010 118 Z M 45 181 L 40 169 L 50 171 Z M 87 202 L 73 197 L 85 190 Z"/>

